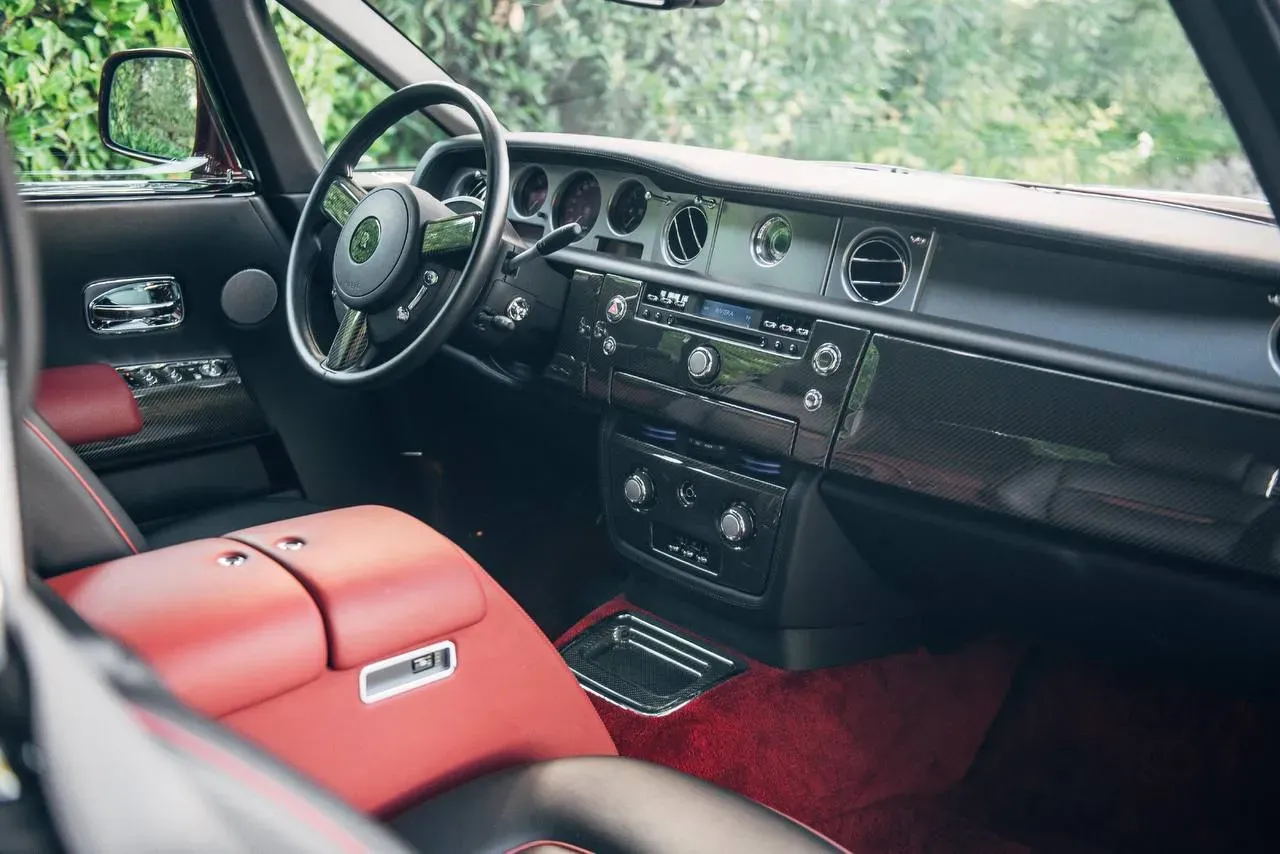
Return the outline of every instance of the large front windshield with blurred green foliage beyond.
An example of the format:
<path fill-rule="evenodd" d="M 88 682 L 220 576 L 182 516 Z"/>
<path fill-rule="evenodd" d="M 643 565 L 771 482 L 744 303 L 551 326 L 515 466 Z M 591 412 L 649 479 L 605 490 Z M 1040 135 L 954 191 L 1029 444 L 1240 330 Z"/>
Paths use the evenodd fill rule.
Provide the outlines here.
<path fill-rule="evenodd" d="M 515 131 L 1261 198 L 1164 0 L 367 0 Z"/>

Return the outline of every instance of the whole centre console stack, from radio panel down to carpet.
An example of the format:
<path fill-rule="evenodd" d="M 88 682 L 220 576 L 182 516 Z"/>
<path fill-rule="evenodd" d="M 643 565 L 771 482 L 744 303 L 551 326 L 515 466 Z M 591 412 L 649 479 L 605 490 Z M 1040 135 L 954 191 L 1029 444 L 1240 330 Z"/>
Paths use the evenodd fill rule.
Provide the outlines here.
<path fill-rule="evenodd" d="M 787 667 L 910 641 L 911 608 L 817 494 L 868 330 L 590 270 L 566 306 L 545 375 L 605 411 L 602 489 L 632 600 Z"/>

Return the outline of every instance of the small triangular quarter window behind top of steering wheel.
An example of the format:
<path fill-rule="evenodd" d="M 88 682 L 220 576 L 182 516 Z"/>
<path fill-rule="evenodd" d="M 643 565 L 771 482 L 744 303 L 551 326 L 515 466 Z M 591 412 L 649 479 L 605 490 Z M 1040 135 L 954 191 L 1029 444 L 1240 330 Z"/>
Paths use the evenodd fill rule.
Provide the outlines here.
<path fill-rule="evenodd" d="M 311 123 L 325 151 L 333 151 L 347 131 L 390 95 L 392 88 L 284 6 L 271 0 L 269 8 Z M 438 124 L 415 113 L 369 149 L 361 168 L 412 169 L 433 142 L 444 138 L 448 134 Z"/>

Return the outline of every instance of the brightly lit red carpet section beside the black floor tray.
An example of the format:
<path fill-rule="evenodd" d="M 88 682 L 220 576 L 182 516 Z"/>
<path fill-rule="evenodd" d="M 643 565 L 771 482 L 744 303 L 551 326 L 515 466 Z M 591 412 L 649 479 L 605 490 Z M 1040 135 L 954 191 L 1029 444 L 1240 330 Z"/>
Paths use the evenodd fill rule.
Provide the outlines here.
<path fill-rule="evenodd" d="M 605 603 L 559 643 L 625 607 Z M 960 782 L 1021 654 L 1016 645 L 982 641 L 950 654 L 804 672 L 753 662 L 657 718 L 591 699 L 622 755 L 710 780 L 850 845 L 863 839 L 851 819 L 859 810 Z M 884 832 L 896 818 L 867 817 Z"/>

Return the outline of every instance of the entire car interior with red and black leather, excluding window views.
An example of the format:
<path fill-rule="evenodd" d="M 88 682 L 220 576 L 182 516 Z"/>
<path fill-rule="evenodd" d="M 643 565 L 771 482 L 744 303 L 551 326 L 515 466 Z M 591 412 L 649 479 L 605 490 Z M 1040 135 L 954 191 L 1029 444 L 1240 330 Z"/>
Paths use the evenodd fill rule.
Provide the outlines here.
<path fill-rule="evenodd" d="M 1276 850 L 1266 202 L 508 131 L 284 5 L 394 90 L 328 151 L 186 0 L 101 138 L 164 65 L 230 179 L 0 157 L 13 850 Z M 1276 6 L 1172 6 L 1280 188 Z"/>

